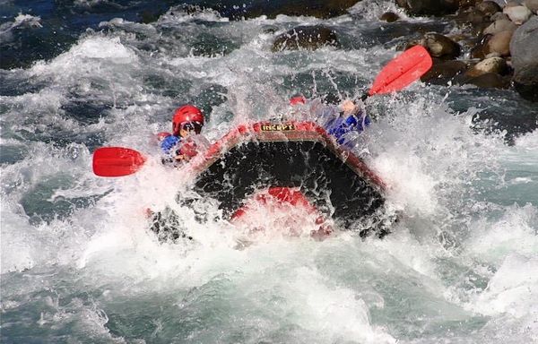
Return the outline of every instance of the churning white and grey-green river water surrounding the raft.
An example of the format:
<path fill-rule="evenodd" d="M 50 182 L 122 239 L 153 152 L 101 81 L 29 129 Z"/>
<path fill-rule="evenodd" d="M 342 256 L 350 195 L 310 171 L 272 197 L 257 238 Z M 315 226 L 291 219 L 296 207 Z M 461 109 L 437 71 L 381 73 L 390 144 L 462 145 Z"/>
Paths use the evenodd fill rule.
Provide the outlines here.
<path fill-rule="evenodd" d="M 162 2 L 147 24 L 138 3 L 35 3 L 0 4 L 2 342 L 538 342 L 538 110 L 511 90 L 418 82 L 369 99 L 356 151 L 403 214 L 384 239 L 336 228 L 317 242 L 278 222 L 245 238 L 212 204 L 197 222 L 175 200 L 185 178 L 157 159 L 91 172 L 101 146 L 156 154 L 187 101 L 214 141 L 297 92 L 360 95 L 408 39 L 391 32 L 447 23 L 382 24 L 389 1 L 239 22 Z M 271 51 L 315 23 L 343 47 Z M 160 244 L 150 206 L 178 211 L 195 240 Z"/>

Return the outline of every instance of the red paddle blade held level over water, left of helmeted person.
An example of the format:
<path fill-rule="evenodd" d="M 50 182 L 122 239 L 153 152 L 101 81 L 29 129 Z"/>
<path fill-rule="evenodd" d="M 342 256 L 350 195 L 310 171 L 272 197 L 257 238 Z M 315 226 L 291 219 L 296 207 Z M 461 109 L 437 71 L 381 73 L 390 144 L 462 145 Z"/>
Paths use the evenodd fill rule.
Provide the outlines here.
<path fill-rule="evenodd" d="M 136 150 L 102 147 L 93 152 L 93 173 L 97 176 L 128 176 L 142 168 L 145 158 Z"/>

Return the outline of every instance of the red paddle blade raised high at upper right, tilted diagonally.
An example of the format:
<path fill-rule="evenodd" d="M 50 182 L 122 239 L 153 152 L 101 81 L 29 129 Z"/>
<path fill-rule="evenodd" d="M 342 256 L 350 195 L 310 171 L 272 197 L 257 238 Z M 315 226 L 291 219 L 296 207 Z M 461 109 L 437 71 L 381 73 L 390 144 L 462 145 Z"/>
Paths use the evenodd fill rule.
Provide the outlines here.
<path fill-rule="evenodd" d="M 410 83 L 418 80 L 431 68 L 430 54 L 422 46 L 407 49 L 397 56 L 377 75 L 376 81 L 369 90 L 369 96 L 402 90 Z"/>

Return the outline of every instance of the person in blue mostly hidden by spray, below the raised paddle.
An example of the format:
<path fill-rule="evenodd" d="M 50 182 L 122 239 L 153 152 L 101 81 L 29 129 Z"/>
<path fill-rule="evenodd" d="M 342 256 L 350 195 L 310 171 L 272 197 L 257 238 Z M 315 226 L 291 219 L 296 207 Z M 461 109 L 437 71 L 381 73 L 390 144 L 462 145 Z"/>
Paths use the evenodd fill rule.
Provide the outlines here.
<path fill-rule="evenodd" d="M 361 133 L 370 124 L 370 118 L 364 110 L 362 100 L 345 99 L 339 105 L 340 99 L 329 94 L 325 99 L 307 101 L 302 95 L 290 99 L 291 106 L 307 106 L 308 112 L 315 116 L 317 123 L 325 131 L 334 136 L 338 144 L 348 148 L 354 146 L 350 133 Z"/>

